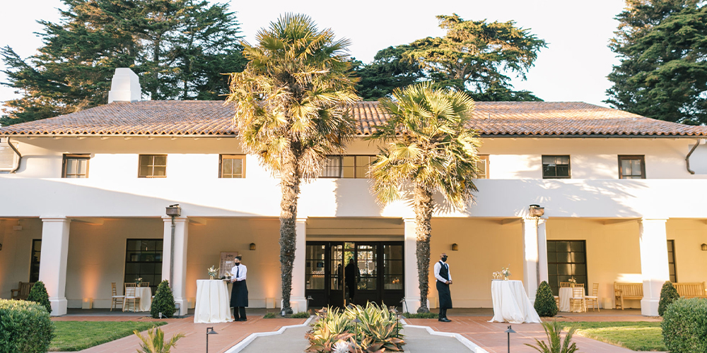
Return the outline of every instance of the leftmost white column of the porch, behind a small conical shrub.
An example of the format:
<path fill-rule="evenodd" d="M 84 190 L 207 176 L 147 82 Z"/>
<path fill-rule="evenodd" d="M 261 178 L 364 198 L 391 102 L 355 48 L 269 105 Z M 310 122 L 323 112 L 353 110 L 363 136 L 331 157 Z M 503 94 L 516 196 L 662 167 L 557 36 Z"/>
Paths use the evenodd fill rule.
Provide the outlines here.
<path fill-rule="evenodd" d="M 52 304 L 52 316 L 66 314 L 66 260 L 69 256 L 69 225 L 66 217 L 42 217 L 40 281 Z"/>

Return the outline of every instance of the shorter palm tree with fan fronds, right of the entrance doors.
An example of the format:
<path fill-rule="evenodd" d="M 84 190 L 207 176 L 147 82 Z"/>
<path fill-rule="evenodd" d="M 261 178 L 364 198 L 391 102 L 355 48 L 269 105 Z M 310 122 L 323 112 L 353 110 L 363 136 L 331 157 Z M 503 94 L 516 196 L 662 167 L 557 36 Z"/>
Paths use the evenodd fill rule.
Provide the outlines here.
<path fill-rule="evenodd" d="M 467 127 L 474 101 L 464 92 L 418 83 L 395 89 L 392 99 L 382 98 L 379 107 L 390 119 L 371 136 L 386 142 L 370 167 L 373 192 L 385 204 L 412 189 L 421 304 L 417 311 L 428 312 L 433 195 L 441 193 L 450 208 L 464 210 L 477 191 L 474 177 L 480 140 Z"/>

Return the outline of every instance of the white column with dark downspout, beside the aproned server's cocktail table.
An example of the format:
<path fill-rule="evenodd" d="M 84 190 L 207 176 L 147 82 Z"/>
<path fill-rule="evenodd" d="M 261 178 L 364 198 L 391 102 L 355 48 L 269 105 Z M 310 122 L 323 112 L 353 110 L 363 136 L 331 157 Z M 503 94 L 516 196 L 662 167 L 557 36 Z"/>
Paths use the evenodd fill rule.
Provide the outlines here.
<path fill-rule="evenodd" d="M 162 217 L 165 222 L 162 251 L 162 279 L 170 280 L 170 266 L 174 278 L 170 285 L 175 297 L 175 303 L 180 306 L 179 315 L 187 314 L 187 241 L 189 241 L 189 220 L 187 217 L 175 217 L 175 243 L 172 258 L 172 218 Z"/>

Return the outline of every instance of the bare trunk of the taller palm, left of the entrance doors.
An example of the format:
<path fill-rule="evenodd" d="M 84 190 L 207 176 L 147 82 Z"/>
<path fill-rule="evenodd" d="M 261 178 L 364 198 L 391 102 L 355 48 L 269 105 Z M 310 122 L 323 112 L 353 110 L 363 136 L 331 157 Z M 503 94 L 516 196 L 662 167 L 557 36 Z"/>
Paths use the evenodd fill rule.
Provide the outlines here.
<path fill-rule="evenodd" d="M 282 279 L 282 309 L 292 313 L 290 294 L 292 291 L 292 266 L 295 261 L 297 221 L 297 197 L 300 194 L 298 161 L 293 152 L 283 158 L 280 171 L 280 271 Z"/>

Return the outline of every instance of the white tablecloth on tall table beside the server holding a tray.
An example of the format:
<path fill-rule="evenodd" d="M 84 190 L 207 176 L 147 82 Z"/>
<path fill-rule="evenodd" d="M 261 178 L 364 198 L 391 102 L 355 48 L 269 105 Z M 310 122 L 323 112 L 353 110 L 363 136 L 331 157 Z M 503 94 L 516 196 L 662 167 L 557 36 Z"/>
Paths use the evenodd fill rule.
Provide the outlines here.
<path fill-rule="evenodd" d="M 197 280 L 194 323 L 230 323 L 228 285 L 223 280 Z"/>

